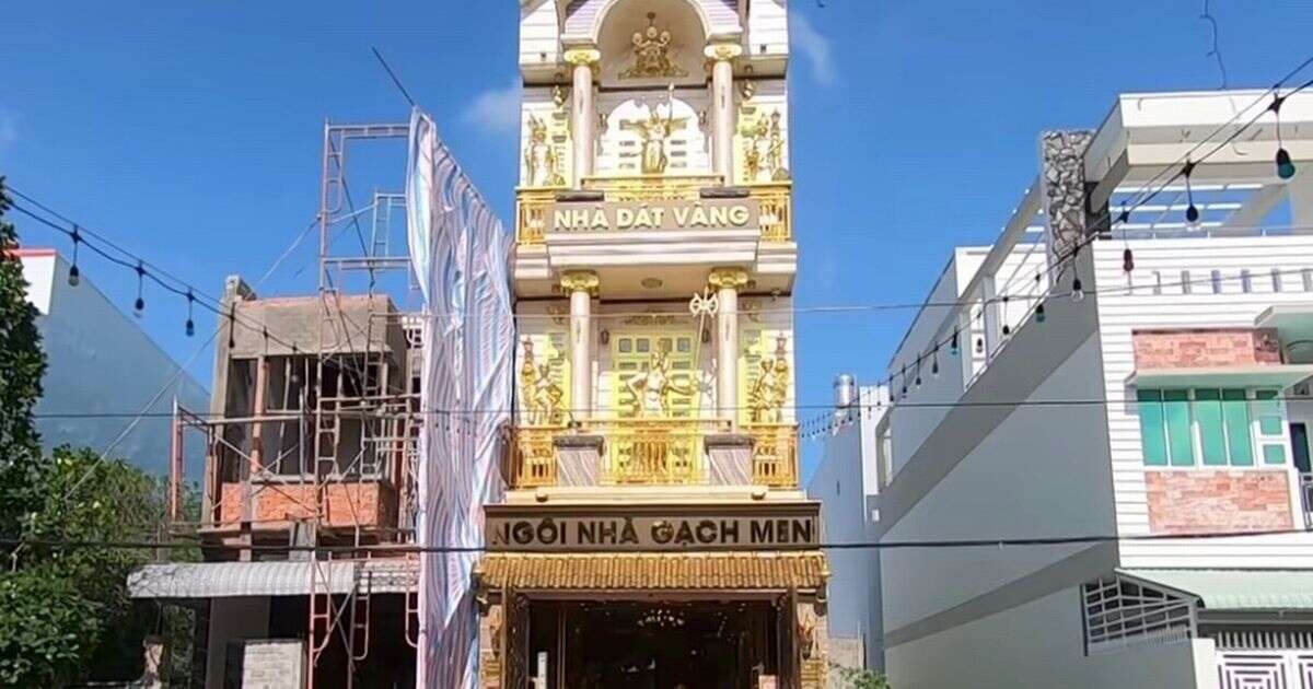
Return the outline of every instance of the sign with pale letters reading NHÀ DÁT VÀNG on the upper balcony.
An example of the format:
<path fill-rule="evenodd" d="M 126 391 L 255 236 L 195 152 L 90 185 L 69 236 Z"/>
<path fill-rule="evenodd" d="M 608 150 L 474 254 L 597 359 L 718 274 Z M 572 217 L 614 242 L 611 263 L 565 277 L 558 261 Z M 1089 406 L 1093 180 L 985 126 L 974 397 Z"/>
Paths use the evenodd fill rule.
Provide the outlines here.
<path fill-rule="evenodd" d="M 755 230 L 762 227 L 762 203 L 755 198 L 557 202 L 548 207 L 548 220 L 549 232 Z"/>

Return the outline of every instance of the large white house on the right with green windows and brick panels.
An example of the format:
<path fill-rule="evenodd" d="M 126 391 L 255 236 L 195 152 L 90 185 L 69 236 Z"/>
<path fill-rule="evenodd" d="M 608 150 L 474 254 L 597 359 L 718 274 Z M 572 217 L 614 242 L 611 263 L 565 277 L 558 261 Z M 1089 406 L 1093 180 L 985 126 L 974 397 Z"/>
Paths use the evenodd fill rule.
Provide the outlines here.
<path fill-rule="evenodd" d="M 955 252 L 890 362 L 880 539 L 1106 539 L 882 551 L 893 686 L 1313 686 L 1313 94 L 1293 178 L 1268 112 L 1108 228 L 1271 100 L 1121 96 Z"/>

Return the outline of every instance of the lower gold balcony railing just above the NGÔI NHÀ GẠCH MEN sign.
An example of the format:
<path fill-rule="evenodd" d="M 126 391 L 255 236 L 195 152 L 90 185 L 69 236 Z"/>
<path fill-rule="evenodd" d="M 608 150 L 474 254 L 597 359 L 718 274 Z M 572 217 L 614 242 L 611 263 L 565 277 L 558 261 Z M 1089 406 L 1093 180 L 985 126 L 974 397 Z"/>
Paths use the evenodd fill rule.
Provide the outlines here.
<path fill-rule="evenodd" d="M 579 429 L 517 427 L 506 469 L 512 488 L 554 486 L 737 486 L 796 488 L 796 424 L 750 424 L 750 442 L 706 448 L 725 436 L 729 421 L 696 419 L 612 419 Z M 580 444 L 596 438 L 599 442 Z M 714 467 L 713 463 L 720 466 Z M 741 469 L 735 469 L 741 467 Z"/>

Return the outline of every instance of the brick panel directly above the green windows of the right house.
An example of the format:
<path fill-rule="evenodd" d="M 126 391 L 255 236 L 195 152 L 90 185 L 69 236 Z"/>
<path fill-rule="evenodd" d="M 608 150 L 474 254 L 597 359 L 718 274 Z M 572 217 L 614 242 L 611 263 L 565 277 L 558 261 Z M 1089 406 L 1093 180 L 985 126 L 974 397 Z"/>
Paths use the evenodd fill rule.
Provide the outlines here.
<path fill-rule="evenodd" d="M 1137 329 L 1137 369 L 1280 364 L 1275 328 Z"/>

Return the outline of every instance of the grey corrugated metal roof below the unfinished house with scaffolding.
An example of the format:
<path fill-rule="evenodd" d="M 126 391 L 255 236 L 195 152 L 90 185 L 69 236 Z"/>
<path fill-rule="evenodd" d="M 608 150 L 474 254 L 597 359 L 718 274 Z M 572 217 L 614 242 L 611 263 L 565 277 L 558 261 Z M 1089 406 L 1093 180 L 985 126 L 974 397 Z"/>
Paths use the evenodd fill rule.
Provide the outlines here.
<path fill-rule="evenodd" d="M 235 596 L 305 596 L 309 562 L 193 562 L 147 564 L 127 577 L 134 598 L 225 598 Z M 320 562 L 315 591 L 348 593 L 360 581 L 373 593 L 403 593 L 415 587 L 414 560 Z"/>

